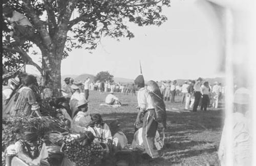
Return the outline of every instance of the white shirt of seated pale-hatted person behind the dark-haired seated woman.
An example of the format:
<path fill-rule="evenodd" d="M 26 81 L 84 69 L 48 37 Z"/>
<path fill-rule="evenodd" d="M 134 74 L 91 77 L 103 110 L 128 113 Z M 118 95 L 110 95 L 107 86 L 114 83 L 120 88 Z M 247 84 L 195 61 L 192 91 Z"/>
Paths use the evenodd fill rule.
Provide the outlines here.
<path fill-rule="evenodd" d="M 71 121 L 71 129 L 75 132 L 84 132 L 88 130 L 91 117 L 88 113 L 79 111 Z"/>

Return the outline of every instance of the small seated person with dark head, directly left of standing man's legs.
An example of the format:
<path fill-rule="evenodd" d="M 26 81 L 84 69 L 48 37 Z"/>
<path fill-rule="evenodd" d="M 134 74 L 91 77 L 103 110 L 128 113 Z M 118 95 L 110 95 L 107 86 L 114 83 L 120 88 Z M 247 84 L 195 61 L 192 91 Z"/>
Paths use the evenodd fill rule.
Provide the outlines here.
<path fill-rule="evenodd" d="M 110 130 L 113 136 L 114 152 L 122 150 L 128 143 L 127 138 L 123 131 L 120 129 L 120 123 L 118 120 L 110 123 Z"/>

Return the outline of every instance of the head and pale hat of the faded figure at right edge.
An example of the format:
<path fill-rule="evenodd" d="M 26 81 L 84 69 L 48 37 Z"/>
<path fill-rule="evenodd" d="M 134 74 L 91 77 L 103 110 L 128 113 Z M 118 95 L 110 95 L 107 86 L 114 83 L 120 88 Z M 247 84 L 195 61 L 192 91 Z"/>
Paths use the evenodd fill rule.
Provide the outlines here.
<path fill-rule="evenodd" d="M 234 93 L 234 112 L 245 114 L 249 110 L 250 93 L 246 88 L 239 88 Z"/>

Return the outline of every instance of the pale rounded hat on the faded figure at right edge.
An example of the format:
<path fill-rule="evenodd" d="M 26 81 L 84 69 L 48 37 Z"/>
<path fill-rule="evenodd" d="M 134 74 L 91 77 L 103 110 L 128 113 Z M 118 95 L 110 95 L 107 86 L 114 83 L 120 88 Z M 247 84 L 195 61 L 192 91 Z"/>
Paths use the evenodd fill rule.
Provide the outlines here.
<path fill-rule="evenodd" d="M 234 103 L 237 104 L 249 104 L 250 92 L 246 88 L 239 88 L 234 92 Z"/>

